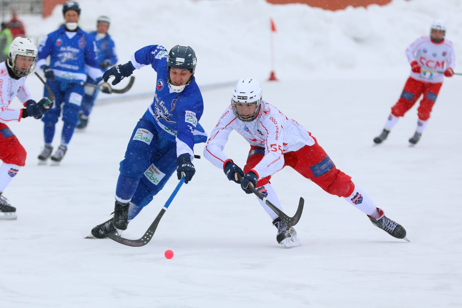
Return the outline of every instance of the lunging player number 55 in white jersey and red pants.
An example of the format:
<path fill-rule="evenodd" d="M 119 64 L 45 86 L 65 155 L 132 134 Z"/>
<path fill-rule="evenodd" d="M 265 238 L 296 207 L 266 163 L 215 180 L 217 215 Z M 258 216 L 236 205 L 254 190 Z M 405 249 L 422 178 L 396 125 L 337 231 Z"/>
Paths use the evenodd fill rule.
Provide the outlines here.
<path fill-rule="evenodd" d="M 244 170 L 223 153 L 233 129 L 250 143 Z M 284 166 L 291 166 L 324 191 L 343 197 L 346 202 L 353 204 L 377 227 L 396 238 L 406 237 L 406 230 L 401 225 L 385 216 L 383 210 L 375 206 L 371 198 L 352 182 L 350 176 L 335 167 L 310 132 L 297 121 L 286 117 L 274 105 L 262 100 L 257 80 L 241 79 L 237 82 L 232 92 L 231 105 L 220 115 L 204 148 L 204 156 L 223 169 L 228 179 L 240 184 L 246 193 L 251 193 L 247 188 L 252 185 L 267 195 L 267 199 L 279 209 L 281 205 L 269 179 Z M 242 183 L 236 173 L 243 177 Z M 278 228 L 278 243 L 286 247 L 298 246 L 300 243 L 295 229 L 258 200 Z"/>

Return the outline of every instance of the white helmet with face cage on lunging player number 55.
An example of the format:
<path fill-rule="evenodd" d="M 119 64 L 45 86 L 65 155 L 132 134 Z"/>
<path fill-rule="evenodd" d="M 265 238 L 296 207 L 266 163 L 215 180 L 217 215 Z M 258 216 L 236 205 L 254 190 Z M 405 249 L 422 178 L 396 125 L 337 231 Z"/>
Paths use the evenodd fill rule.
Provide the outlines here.
<path fill-rule="evenodd" d="M 241 79 L 237 81 L 236 86 L 232 90 L 231 98 L 231 108 L 236 116 L 243 122 L 251 122 L 255 120 L 260 104 L 260 82 L 255 79 Z"/>

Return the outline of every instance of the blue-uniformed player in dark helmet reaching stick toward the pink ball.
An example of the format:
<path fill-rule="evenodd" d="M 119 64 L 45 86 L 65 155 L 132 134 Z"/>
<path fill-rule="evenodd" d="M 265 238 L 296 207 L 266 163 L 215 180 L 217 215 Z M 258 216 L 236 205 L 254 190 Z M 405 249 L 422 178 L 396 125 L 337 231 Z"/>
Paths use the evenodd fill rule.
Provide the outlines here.
<path fill-rule="evenodd" d="M 151 202 L 176 169 L 178 179 L 185 173 L 188 183 L 195 168 L 195 143 L 206 142 L 207 134 L 198 123 L 204 104 L 194 72 L 196 55 L 191 47 L 176 45 L 169 52 L 160 45 L 146 46 L 134 53 L 126 64 L 104 73 L 105 81 L 114 76 L 116 85 L 134 69 L 151 65 L 157 72 L 154 100 L 133 130 L 125 158 L 120 164 L 114 217 L 97 225 L 91 234 L 104 238 Z"/>

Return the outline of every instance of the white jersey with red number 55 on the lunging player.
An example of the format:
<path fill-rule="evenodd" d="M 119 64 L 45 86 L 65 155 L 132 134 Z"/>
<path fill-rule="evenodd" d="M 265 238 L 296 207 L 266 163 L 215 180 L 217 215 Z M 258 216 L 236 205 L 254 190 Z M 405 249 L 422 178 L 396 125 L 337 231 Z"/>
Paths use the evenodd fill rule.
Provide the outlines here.
<path fill-rule="evenodd" d="M 235 129 L 252 146 L 265 149 L 263 159 L 252 169 L 259 179 L 272 175 L 284 166 L 283 154 L 315 144 L 308 131 L 297 121 L 284 115 L 278 108 L 261 102 L 258 116 L 252 122 L 236 117 L 231 105 L 226 108 L 210 134 L 204 156 L 213 165 L 224 169 L 229 158 L 223 153 L 228 136 Z"/>

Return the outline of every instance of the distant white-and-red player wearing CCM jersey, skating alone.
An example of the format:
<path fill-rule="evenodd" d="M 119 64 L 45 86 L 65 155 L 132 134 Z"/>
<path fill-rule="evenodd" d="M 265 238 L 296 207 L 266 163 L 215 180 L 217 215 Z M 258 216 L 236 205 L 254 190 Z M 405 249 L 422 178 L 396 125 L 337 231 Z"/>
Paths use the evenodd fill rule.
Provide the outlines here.
<path fill-rule="evenodd" d="M 403 92 L 398 102 L 391 107 L 391 114 L 382 134 L 374 138 L 375 143 L 382 143 L 387 139 L 390 130 L 398 122 L 399 117 L 411 109 L 420 95 L 424 98 L 420 101 L 418 111 L 419 119 L 414 136 L 409 139 L 411 145 L 419 142 L 424 131 L 433 105 L 438 97 L 438 92 L 443 85 L 443 75 L 451 77 L 454 74 L 456 58 L 452 42 L 446 40 L 446 25 L 442 20 L 435 20 L 430 27 L 430 35 L 418 38 L 406 49 L 407 61 L 411 64 L 411 75 L 404 85 Z M 441 73 L 438 73 L 441 72 Z"/>

